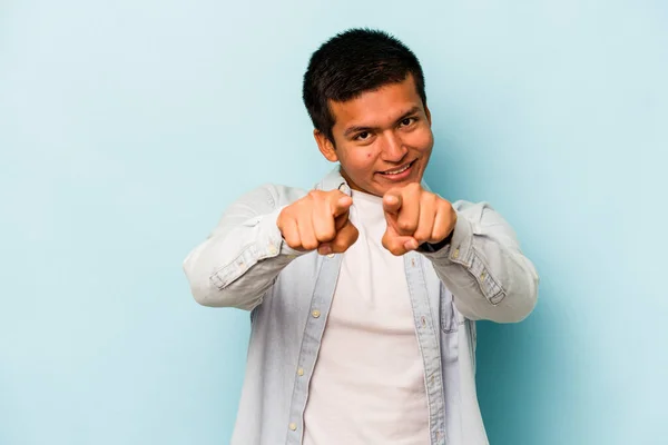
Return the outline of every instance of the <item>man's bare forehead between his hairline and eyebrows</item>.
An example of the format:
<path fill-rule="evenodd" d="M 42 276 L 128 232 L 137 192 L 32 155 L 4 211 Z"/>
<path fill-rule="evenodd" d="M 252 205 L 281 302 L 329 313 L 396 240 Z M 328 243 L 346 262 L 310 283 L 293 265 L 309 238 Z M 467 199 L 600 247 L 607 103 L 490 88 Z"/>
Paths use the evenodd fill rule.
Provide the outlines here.
<path fill-rule="evenodd" d="M 330 101 L 335 130 L 344 130 L 347 126 L 391 125 L 415 107 L 424 110 L 415 81 L 410 75 L 400 83 L 389 83 L 376 90 L 364 91 L 351 100 Z"/>

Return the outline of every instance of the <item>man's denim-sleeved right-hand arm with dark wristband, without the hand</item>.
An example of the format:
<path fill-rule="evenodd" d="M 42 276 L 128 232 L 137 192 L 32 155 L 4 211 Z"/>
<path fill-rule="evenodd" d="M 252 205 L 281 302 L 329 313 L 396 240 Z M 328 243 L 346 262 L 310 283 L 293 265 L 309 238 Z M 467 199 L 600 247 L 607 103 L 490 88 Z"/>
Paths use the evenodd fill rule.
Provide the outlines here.
<path fill-rule="evenodd" d="M 439 278 L 470 319 L 514 323 L 525 318 L 538 299 L 538 274 L 520 250 L 510 225 L 488 204 L 458 201 L 450 243 L 430 253 Z"/>

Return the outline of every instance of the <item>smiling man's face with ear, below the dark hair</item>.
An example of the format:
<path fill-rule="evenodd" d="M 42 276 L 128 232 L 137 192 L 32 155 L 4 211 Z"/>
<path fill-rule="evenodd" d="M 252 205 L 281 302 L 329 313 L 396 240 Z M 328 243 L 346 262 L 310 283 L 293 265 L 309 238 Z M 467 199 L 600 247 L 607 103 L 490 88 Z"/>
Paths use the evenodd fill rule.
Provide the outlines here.
<path fill-rule="evenodd" d="M 317 130 L 315 137 L 323 155 L 341 162 L 352 189 L 383 196 L 422 180 L 434 138 L 412 76 L 330 107 L 335 146 Z"/>

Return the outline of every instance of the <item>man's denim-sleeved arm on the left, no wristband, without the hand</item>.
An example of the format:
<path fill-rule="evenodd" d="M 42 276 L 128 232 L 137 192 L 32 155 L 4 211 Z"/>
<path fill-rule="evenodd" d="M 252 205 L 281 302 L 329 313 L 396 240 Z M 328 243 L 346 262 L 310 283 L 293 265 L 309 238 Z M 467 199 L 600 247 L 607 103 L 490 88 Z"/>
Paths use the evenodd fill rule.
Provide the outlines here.
<path fill-rule="evenodd" d="M 299 199 L 299 189 L 263 186 L 234 202 L 209 237 L 186 257 L 184 271 L 195 300 L 204 306 L 250 310 L 292 259 L 276 225 L 281 206 Z"/>

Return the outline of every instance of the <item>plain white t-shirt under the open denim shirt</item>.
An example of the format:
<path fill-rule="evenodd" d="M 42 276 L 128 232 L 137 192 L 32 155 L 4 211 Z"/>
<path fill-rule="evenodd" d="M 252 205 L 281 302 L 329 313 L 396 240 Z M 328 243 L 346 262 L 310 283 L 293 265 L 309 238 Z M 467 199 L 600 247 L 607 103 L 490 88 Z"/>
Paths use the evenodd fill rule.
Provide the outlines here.
<path fill-rule="evenodd" d="M 304 445 L 426 445 L 424 372 L 403 257 L 381 244 L 382 198 L 353 191 L 343 255 L 304 413 Z"/>

